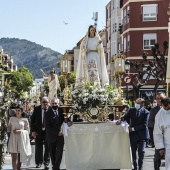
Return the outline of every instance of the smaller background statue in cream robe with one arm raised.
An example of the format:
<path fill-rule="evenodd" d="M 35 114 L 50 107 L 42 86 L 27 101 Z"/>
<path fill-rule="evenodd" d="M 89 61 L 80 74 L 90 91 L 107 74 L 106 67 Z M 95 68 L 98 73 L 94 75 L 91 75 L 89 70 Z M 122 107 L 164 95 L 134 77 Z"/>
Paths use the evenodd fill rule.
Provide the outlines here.
<path fill-rule="evenodd" d="M 40 71 L 44 77 L 48 77 L 48 86 L 49 86 L 48 98 L 49 101 L 51 101 L 51 99 L 57 97 L 57 90 L 60 89 L 58 76 L 57 74 L 55 74 L 54 68 L 51 69 L 50 75 L 45 74 L 42 69 L 40 69 Z"/>

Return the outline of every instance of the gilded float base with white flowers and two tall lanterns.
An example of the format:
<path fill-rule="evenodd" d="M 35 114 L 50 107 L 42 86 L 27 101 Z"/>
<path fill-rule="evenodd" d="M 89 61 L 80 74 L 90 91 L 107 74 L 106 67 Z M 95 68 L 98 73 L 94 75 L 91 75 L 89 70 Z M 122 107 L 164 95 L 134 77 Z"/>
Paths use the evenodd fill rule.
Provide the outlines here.
<path fill-rule="evenodd" d="M 67 52 L 61 57 L 61 75 L 64 77 L 65 88 L 63 91 L 63 105 L 65 118 L 78 115 L 85 122 L 105 121 L 110 114 L 114 114 L 115 119 L 124 115 L 127 106 L 123 98 L 121 86 L 122 75 L 125 73 L 125 55 L 118 53 L 113 57 L 111 76 L 114 78 L 114 88 L 106 86 L 98 88 L 95 83 L 91 85 L 84 82 L 84 86 L 69 88 L 68 77 L 71 74 L 71 61 L 73 56 Z"/>

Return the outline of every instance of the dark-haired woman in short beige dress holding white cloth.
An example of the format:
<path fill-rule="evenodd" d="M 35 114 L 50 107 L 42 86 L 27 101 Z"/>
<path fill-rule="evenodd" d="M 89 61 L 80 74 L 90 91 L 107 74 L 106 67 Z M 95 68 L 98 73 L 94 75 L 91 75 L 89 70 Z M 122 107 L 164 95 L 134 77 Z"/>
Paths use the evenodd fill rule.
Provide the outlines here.
<path fill-rule="evenodd" d="M 26 136 L 29 135 L 29 123 L 27 118 L 23 118 L 23 108 L 20 106 L 16 107 L 16 117 L 11 117 L 9 120 L 9 126 L 11 129 L 11 135 L 9 138 L 8 144 L 8 152 L 11 153 L 12 157 L 12 167 L 13 170 L 20 170 L 21 168 L 21 158 L 20 152 L 23 148 L 26 148 L 28 153 L 26 155 L 31 154 L 31 146 L 30 142 L 26 144 L 25 147 L 23 146 L 23 138 L 22 134 L 26 132 Z M 29 137 L 27 137 L 28 139 Z"/>

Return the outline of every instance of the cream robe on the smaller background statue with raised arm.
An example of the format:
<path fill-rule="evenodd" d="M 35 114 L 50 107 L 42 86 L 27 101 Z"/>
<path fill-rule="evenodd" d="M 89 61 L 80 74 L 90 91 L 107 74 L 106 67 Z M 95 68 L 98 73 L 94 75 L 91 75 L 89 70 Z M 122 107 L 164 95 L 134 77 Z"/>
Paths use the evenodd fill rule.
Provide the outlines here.
<path fill-rule="evenodd" d="M 49 94 L 48 98 L 49 101 L 54 97 L 57 97 L 57 89 L 60 87 L 58 76 L 55 74 L 55 78 L 51 81 L 51 76 L 48 77 L 48 87 L 49 87 Z"/>

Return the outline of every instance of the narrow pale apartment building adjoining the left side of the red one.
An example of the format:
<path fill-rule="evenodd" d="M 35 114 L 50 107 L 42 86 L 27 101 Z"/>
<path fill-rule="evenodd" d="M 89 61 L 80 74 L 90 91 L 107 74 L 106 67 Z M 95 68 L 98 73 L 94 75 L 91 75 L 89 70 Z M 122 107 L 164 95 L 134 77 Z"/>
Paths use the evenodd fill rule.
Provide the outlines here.
<path fill-rule="evenodd" d="M 106 5 L 106 64 L 111 84 L 114 84 L 114 79 L 110 74 L 110 61 L 112 60 L 112 57 L 120 51 L 121 48 L 120 27 L 122 25 L 122 5 L 122 0 L 111 0 Z"/>

